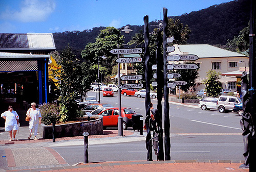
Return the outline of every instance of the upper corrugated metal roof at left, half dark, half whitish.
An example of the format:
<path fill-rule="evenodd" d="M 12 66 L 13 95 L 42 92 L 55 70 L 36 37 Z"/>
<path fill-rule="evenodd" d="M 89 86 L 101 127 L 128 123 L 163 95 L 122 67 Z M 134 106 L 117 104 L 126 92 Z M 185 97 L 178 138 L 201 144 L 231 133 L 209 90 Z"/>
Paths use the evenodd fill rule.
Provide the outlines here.
<path fill-rule="evenodd" d="M 0 50 L 55 50 L 51 33 L 0 34 Z"/>

